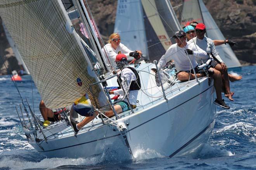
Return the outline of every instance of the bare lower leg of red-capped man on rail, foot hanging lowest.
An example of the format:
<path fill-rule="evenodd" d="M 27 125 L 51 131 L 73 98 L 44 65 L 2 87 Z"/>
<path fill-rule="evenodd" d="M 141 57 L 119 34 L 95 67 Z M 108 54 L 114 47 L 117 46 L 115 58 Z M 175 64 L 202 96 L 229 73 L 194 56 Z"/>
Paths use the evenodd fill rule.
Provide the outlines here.
<path fill-rule="evenodd" d="M 221 67 L 220 64 L 217 64 L 214 68 L 216 70 L 220 71 L 220 73 L 221 73 L 221 78 L 222 78 L 223 86 L 224 86 L 224 89 L 225 89 L 225 97 L 227 97 L 231 101 L 234 101 L 234 99 L 232 98 L 232 94 L 230 92 L 228 72 L 222 70 L 222 67 Z"/>

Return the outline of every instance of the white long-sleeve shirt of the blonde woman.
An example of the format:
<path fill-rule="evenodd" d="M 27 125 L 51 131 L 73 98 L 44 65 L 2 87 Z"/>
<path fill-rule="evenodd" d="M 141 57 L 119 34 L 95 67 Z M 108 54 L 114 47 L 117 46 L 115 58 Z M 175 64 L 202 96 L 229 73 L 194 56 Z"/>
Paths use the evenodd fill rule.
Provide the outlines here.
<path fill-rule="evenodd" d="M 106 44 L 103 48 L 102 48 L 102 53 L 105 56 L 105 59 L 107 61 L 107 63 L 109 63 L 108 58 L 111 60 L 112 63 L 110 63 L 111 65 L 114 64 L 115 60 L 116 60 L 116 55 L 117 54 L 125 54 L 127 57 L 129 57 L 129 54 L 133 52 L 130 49 L 128 49 L 124 44 L 120 43 L 119 46 L 117 46 L 116 49 L 112 48 L 111 43 Z M 106 56 L 107 54 L 107 56 Z"/>

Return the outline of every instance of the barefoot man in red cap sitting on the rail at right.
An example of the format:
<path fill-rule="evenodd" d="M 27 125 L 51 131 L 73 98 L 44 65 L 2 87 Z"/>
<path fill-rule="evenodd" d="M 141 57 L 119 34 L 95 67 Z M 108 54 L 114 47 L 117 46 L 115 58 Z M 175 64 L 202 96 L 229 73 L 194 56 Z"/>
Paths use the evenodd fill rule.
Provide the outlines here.
<path fill-rule="evenodd" d="M 197 46 L 199 46 L 201 49 L 206 51 L 208 54 L 212 54 L 215 61 L 211 62 L 211 65 L 213 66 L 213 70 L 216 73 L 217 71 L 221 72 L 222 75 L 222 81 L 225 87 L 225 97 L 228 97 L 229 100 L 234 100 L 232 98 L 232 95 L 234 93 L 230 92 L 230 86 L 229 86 L 229 76 L 231 78 L 235 78 L 233 75 L 228 75 L 227 73 L 227 66 L 223 62 L 223 60 L 218 55 L 214 42 L 208 37 L 205 37 L 204 34 L 206 33 L 206 26 L 203 23 L 197 24 L 195 27 L 195 34 L 197 37 L 194 37 L 191 39 L 188 43 L 195 43 Z M 196 57 L 197 63 L 205 63 L 209 59 L 209 56 L 206 57 Z M 219 85 L 221 86 L 221 85 Z"/>

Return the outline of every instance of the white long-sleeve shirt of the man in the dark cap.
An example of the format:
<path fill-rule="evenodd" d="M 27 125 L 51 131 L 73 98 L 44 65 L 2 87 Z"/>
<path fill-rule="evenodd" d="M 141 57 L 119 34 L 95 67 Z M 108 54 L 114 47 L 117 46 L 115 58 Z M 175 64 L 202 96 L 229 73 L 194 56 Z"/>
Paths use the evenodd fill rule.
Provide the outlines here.
<path fill-rule="evenodd" d="M 191 49 L 192 51 L 194 51 L 193 55 L 189 55 L 189 58 L 188 58 L 187 54 L 185 53 L 185 49 Z M 176 43 L 171 45 L 167 49 L 166 53 L 159 60 L 157 67 L 159 69 L 163 68 L 168 61 L 173 59 L 175 61 L 175 67 L 177 71 L 188 71 L 188 70 L 191 70 L 192 67 L 197 66 L 197 62 L 195 60 L 196 56 L 206 57 L 208 55 L 204 50 L 202 50 L 195 44 L 187 43 L 185 47 L 180 48 Z M 190 65 L 189 59 L 192 65 Z"/>

